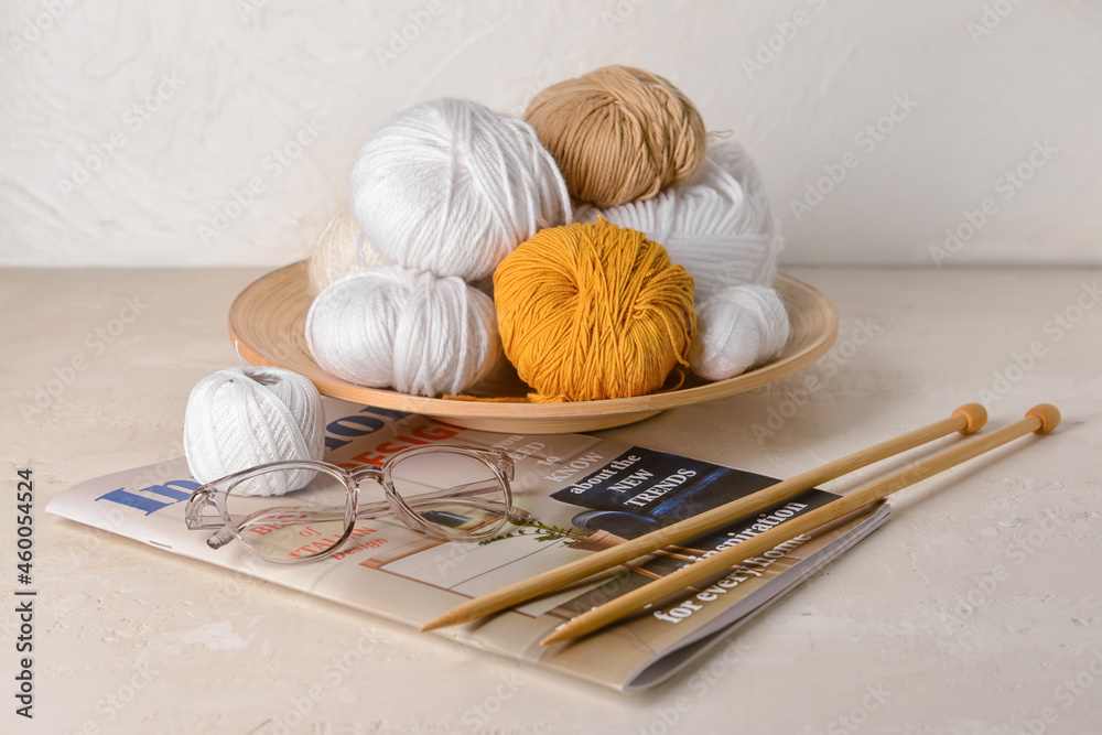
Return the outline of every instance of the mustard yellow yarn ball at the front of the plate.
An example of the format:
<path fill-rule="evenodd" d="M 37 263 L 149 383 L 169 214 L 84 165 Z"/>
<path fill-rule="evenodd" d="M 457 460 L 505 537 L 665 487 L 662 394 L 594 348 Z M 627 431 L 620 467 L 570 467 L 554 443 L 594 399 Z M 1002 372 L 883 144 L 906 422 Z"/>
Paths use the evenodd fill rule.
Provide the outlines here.
<path fill-rule="evenodd" d="M 505 354 L 537 402 L 658 390 L 696 334 L 692 275 L 604 220 L 521 244 L 494 273 L 494 301 Z"/>

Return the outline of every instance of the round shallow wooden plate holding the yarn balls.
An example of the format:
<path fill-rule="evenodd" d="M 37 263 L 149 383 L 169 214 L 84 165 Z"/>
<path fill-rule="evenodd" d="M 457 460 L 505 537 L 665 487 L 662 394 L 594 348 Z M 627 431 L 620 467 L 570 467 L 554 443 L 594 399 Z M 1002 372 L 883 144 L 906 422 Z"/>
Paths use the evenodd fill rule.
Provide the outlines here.
<path fill-rule="evenodd" d="M 253 365 L 272 365 L 310 378 L 326 396 L 363 406 L 423 413 L 484 431 L 555 434 L 596 431 L 652 417 L 666 409 L 732 396 L 779 380 L 822 357 L 838 336 L 838 312 L 827 296 L 806 283 L 778 275 L 776 288 L 788 309 L 791 335 L 779 358 L 748 372 L 707 382 L 689 376 L 667 392 L 574 403 L 483 403 L 409 396 L 365 388 L 335 378 L 317 366 L 306 348 L 306 312 L 313 295 L 305 262 L 273 271 L 250 284 L 229 309 L 229 336 Z M 482 397 L 522 397 L 530 392 L 508 360 L 467 391 Z"/>

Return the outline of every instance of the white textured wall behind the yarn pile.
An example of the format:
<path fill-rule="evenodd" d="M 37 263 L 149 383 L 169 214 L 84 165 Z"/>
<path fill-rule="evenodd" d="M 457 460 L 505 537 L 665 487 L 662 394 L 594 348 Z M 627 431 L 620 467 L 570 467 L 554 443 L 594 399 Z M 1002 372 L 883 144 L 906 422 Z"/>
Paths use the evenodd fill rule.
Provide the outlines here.
<path fill-rule="evenodd" d="M 608 63 L 735 131 L 786 263 L 1102 263 L 1098 2 L 6 0 L 0 36 L 4 264 L 289 262 L 389 114 L 519 114 Z M 947 227 L 965 237 L 934 258 Z"/>

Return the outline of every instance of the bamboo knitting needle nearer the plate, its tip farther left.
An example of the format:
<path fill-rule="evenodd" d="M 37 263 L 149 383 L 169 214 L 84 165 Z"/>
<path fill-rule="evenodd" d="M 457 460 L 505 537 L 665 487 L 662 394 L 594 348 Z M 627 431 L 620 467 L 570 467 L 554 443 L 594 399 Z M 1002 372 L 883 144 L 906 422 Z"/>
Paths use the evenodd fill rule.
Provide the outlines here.
<path fill-rule="evenodd" d="M 671 543 L 677 543 L 716 529 L 747 514 L 767 508 L 775 502 L 871 465 L 874 462 L 886 460 L 900 452 L 915 448 L 953 432 L 971 434 L 982 429 L 986 422 L 987 412 L 984 408 L 979 403 L 968 403 L 953 411 L 951 417 L 931 423 L 928 426 L 916 429 L 895 439 L 880 442 L 875 446 L 854 452 L 738 500 L 733 500 L 719 508 L 713 508 L 712 510 L 658 529 L 646 536 L 640 536 L 627 543 L 583 556 L 558 569 L 537 574 L 529 580 L 510 584 L 485 594 L 482 597 L 475 597 L 444 613 L 431 623 L 426 623 L 421 627 L 421 630 L 434 630 L 435 628 L 444 628 L 450 625 L 468 623 L 491 613 L 500 612 L 518 603 L 561 590 L 568 584 L 584 580 L 597 572 L 638 559 Z"/>

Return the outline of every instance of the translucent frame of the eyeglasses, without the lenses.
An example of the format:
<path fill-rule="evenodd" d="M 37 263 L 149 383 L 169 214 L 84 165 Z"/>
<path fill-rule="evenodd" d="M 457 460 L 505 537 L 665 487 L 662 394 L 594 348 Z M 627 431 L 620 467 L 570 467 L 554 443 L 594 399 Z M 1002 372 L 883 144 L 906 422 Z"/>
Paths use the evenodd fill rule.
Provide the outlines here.
<path fill-rule="evenodd" d="M 488 523 L 487 526 L 479 528 L 474 531 L 463 531 L 450 533 L 447 529 L 443 526 L 430 525 L 422 520 L 421 516 L 413 510 L 410 504 L 402 497 L 402 495 L 395 488 L 392 473 L 393 467 L 401 461 L 411 456 L 417 456 L 419 454 L 460 454 L 465 455 L 475 460 L 483 462 L 487 467 L 489 467 L 495 479 L 501 486 L 501 490 L 505 495 L 505 509 L 501 512 L 501 517 L 498 521 Z M 246 522 L 252 516 L 246 517 L 246 522 L 235 523 L 233 518 L 230 518 L 228 510 L 226 509 L 226 497 L 229 495 L 227 491 L 233 488 L 237 483 L 247 479 L 251 476 L 262 475 L 268 472 L 276 469 L 313 469 L 317 472 L 326 472 L 332 477 L 341 479 L 345 486 L 345 530 L 341 538 L 325 551 L 312 554 L 302 559 L 284 559 L 276 558 L 266 554 L 260 549 L 253 547 L 249 543 L 244 536 L 241 536 L 240 528 L 246 526 Z M 261 559 L 267 561 L 276 562 L 278 564 L 302 564 L 315 561 L 321 561 L 328 558 L 329 555 L 336 553 L 336 551 L 343 547 L 352 536 L 356 527 L 356 521 L 359 519 L 369 518 L 380 518 L 387 515 L 393 515 L 398 520 L 403 522 L 406 526 L 414 531 L 421 533 L 426 533 L 436 538 L 442 538 L 447 541 L 483 541 L 485 539 L 491 538 L 501 530 L 501 528 L 510 521 L 530 521 L 533 517 L 526 510 L 516 508 L 512 505 L 512 486 L 510 480 L 514 478 L 515 465 L 512 457 L 508 453 L 496 450 L 496 448 L 480 448 L 471 446 L 460 446 L 454 444 L 431 444 L 426 446 L 410 446 L 387 458 L 381 467 L 376 467 L 374 465 L 364 465 L 360 467 L 355 467 L 348 469 L 346 467 L 341 467 L 331 462 L 322 462 L 316 460 L 289 460 L 279 462 L 269 462 L 266 464 L 257 465 L 255 467 L 249 467 L 248 469 L 241 469 L 236 473 L 226 475 L 216 480 L 209 483 L 204 483 L 195 490 L 192 491 L 191 497 L 187 499 L 187 505 L 184 509 L 184 522 L 188 530 L 209 530 L 217 529 L 206 541 L 207 545 L 212 549 L 219 549 L 227 543 L 229 543 L 235 538 L 240 541 L 246 549 L 257 554 Z M 359 485 L 366 479 L 372 479 L 378 483 L 383 490 L 383 496 L 386 500 L 379 500 L 376 502 L 368 504 L 360 507 L 359 504 Z M 217 485 L 228 483 L 227 489 L 218 489 Z M 474 485 L 475 483 L 468 483 L 468 485 Z M 479 483 L 480 484 L 480 483 Z M 440 498 L 463 498 L 462 494 L 463 485 L 456 487 L 447 488 L 444 490 L 437 490 L 434 493 L 423 494 L 418 496 L 421 500 L 432 500 Z M 460 490 L 456 494 L 456 490 Z M 477 495 L 480 491 L 471 491 L 471 495 Z M 291 495 L 291 494 L 287 494 Z M 270 496 L 270 497 L 282 497 L 282 496 Z M 469 498 L 466 499 L 467 502 L 477 506 L 478 504 L 472 502 Z M 487 500 L 484 502 L 497 505 L 496 500 Z M 209 509 L 217 511 L 217 517 L 213 517 L 207 511 Z M 380 512 L 377 512 L 380 511 Z M 261 512 L 261 511 L 257 511 Z M 253 514 L 255 516 L 256 514 Z"/>

